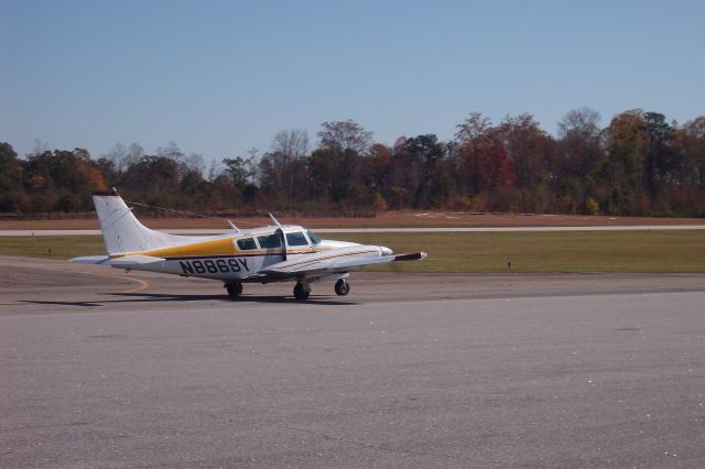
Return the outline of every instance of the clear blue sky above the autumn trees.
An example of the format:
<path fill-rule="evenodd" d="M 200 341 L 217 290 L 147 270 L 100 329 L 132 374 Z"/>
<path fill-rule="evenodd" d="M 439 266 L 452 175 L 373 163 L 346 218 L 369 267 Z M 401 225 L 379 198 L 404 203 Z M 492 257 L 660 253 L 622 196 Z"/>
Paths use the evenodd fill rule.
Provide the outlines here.
<path fill-rule="evenodd" d="M 471 111 L 705 113 L 703 1 L 0 0 L 0 141 L 170 141 L 206 162 L 354 119 L 391 144 Z"/>

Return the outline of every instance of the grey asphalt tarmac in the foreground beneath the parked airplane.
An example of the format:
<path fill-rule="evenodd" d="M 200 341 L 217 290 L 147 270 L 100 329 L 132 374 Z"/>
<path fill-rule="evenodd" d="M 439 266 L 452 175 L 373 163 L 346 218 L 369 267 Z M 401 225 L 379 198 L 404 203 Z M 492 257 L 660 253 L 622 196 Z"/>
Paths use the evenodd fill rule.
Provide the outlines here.
<path fill-rule="evenodd" d="M 705 467 L 705 275 L 0 258 L 0 467 Z"/>

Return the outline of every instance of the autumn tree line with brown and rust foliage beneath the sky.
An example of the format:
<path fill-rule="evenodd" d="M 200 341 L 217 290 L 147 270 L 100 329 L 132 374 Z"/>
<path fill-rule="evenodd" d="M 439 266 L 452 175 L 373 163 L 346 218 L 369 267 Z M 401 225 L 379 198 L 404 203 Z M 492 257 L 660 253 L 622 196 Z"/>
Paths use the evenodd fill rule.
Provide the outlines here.
<path fill-rule="evenodd" d="M 454 138 L 400 137 L 392 145 L 352 120 L 324 122 L 312 145 L 281 131 L 271 150 L 224 159 L 170 143 L 147 154 L 118 144 L 18 157 L 0 143 L 0 212 L 90 211 L 91 190 L 212 214 L 369 216 L 389 209 L 705 216 L 705 117 L 685 124 L 628 110 L 606 128 L 592 109 L 572 110 L 557 135 L 531 114 L 498 124 L 471 113 Z"/>

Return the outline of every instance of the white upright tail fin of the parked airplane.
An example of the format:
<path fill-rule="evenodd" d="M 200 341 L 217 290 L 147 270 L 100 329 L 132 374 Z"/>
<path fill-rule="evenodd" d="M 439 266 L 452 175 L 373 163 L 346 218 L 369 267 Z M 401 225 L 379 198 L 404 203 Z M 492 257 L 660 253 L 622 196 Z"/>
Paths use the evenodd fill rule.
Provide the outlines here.
<path fill-rule="evenodd" d="M 108 254 L 167 248 L 183 242 L 181 237 L 154 231 L 140 223 L 115 189 L 94 193 L 93 203 Z"/>

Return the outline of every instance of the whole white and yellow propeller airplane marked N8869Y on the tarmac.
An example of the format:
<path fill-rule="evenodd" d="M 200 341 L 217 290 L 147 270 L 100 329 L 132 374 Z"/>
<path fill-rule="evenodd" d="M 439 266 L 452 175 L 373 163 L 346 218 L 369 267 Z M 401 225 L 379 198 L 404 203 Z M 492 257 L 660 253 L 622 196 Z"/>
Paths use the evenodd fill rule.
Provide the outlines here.
<path fill-rule="evenodd" d="M 425 252 L 394 254 L 382 246 L 321 240 L 296 225 L 239 230 L 218 236 L 175 236 L 151 230 L 132 215 L 115 189 L 93 195 L 108 255 L 74 258 L 72 262 L 106 264 L 219 280 L 232 297 L 243 283 L 296 282 L 294 297 L 306 299 L 314 282 L 335 281 L 335 293 L 347 295 L 346 279 L 362 265 L 421 260 Z"/>

